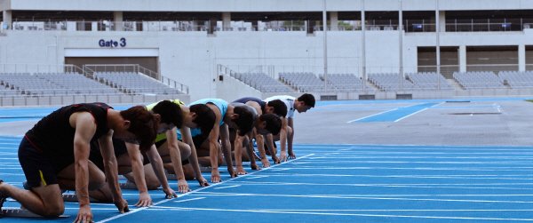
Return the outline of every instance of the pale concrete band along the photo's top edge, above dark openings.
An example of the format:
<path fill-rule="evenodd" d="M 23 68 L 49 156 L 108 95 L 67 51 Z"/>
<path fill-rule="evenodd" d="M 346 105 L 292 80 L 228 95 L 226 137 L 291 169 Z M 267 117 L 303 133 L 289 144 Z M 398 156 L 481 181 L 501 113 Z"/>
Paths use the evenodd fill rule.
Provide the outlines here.
<path fill-rule="evenodd" d="M 436 1 L 402 0 L 405 11 L 432 11 Z M 322 0 L 0 0 L 0 10 L 133 12 L 321 12 Z M 362 0 L 328 0 L 328 11 L 361 11 Z M 398 0 L 366 0 L 367 11 L 398 10 Z M 441 0 L 442 10 L 533 8 L 529 0 Z"/>

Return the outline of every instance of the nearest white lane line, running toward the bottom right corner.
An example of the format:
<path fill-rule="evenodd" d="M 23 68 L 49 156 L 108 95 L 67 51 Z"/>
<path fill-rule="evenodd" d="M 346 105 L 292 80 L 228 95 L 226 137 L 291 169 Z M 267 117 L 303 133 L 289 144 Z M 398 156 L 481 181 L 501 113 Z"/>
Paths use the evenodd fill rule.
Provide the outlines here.
<path fill-rule="evenodd" d="M 418 216 L 418 215 L 355 214 L 355 213 L 321 213 L 321 212 L 267 211 L 267 210 L 232 210 L 232 209 L 214 209 L 214 208 L 175 208 L 175 209 L 163 209 L 163 210 L 176 210 L 176 211 L 231 211 L 231 212 L 281 213 L 281 214 L 302 214 L 302 215 L 333 215 L 333 216 L 359 216 L 359 217 L 380 217 L 380 218 L 405 218 L 405 219 L 472 219 L 472 220 L 533 221 L 533 219 L 500 219 L 500 218 L 474 218 L 474 217 L 454 217 L 454 216 Z M 162 211 L 162 210 L 150 209 L 149 211 Z"/>

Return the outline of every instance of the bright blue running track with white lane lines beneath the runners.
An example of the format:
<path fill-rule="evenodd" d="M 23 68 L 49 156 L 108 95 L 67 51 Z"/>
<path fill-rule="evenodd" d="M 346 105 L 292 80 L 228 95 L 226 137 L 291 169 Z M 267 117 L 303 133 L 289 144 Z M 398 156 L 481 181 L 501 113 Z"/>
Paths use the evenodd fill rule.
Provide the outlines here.
<path fill-rule="evenodd" d="M 0 136 L 0 179 L 16 187 L 25 180 L 19 142 Z M 296 144 L 294 151 L 297 160 L 261 171 L 245 163 L 249 174 L 236 179 L 221 167 L 222 183 L 199 187 L 188 181 L 193 192 L 172 200 L 163 199 L 161 189 L 150 191 L 156 205 L 147 209 L 132 207 L 135 190 L 123 190 L 131 213 L 121 215 L 109 203 L 91 208 L 96 221 L 108 222 L 533 221 L 533 147 Z M 176 180 L 170 183 L 177 187 Z M 0 221 L 72 222 L 77 207 L 66 203 L 70 217 L 64 219 Z"/>

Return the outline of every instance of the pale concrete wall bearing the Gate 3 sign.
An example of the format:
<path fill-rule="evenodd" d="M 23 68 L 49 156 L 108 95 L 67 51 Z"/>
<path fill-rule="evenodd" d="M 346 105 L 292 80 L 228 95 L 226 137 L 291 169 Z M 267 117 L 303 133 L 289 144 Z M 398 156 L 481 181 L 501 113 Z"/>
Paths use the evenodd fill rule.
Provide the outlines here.
<path fill-rule="evenodd" d="M 155 53 L 160 72 L 190 87 L 191 100 L 221 97 L 217 64 L 239 71 L 267 69 L 322 74 L 323 39 L 317 32 L 60 32 L 5 30 L 0 36 L 0 72 L 48 71 L 64 63 L 66 52 L 120 56 Z M 360 31 L 328 32 L 329 73 L 360 75 Z M 124 48 L 99 47 L 99 39 L 126 38 Z M 366 32 L 367 73 L 398 72 L 399 36 L 395 31 Z M 403 38 L 405 72 L 417 68 L 417 47 L 434 46 L 434 33 L 409 33 Z M 442 46 L 533 45 L 533 29 L 523 32 L 442 33 Z M 133 55 L 134 56 L 134 55 Z M 271 67 L 269 67 L 271 66 Z M 51 70 L 53 71 L 53 70 Z M 263 70 L 265 71 L 265 70 Z M 215 80 L 215 81 L 213 81 Z"/>

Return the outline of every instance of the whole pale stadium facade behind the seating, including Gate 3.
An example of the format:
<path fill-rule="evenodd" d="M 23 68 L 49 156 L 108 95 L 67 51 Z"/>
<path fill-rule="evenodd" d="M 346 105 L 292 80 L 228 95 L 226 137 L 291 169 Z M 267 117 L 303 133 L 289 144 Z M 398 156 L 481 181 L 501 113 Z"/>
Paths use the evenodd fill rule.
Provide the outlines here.
<path fill-rule="evenodd" d="M 242 74 L 351 74 L 366 81 L 370 74 L 439 72 L 446 81 L 455 72 L 533 70 L 529 0 L 0 0 L 0 10 L 0 73 L 134 64 L 185 86 L 190 100 L 280 93 L 261 92 Z M 414 91 L 403 81 L 393 91 L 364 84 L 336 92 L 324 84 L 313 92 L 339 100 L 532 92 L 457 82 L 449 83 L 452 91 L 440 83 L 435 91 Z"/>

